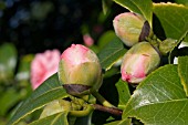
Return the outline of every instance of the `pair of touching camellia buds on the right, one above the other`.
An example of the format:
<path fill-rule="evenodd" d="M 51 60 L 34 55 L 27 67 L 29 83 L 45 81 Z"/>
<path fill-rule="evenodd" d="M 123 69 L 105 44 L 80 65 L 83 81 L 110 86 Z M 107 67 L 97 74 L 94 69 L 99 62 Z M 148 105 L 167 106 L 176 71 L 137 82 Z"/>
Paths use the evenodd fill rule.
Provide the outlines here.
<path fill-rule="evenodd" d="M 150 25 L 143 15 L 133 12 L 116 15 L 113 24 L 116 35 L 130 46 L 123 58 L 122 80 L 137 84 L 160 63 L 157 49 L 146 41 L 153 37 Z"/>

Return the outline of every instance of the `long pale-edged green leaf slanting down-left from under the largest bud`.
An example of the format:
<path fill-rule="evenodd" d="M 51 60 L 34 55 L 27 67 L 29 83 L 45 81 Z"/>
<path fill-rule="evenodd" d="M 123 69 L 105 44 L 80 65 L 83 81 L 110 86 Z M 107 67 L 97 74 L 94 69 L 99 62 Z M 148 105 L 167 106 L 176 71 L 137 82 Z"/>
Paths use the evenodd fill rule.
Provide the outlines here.
<path fill-rule="evenodd" d="M 39 86 L 30 97 L 17 110 L 8 125 L 18 123 L 21 118 L 46 105 L 49 102 L 66 97 L 67 94 L 60 84 L 58 75 L 54 74 Z"/>

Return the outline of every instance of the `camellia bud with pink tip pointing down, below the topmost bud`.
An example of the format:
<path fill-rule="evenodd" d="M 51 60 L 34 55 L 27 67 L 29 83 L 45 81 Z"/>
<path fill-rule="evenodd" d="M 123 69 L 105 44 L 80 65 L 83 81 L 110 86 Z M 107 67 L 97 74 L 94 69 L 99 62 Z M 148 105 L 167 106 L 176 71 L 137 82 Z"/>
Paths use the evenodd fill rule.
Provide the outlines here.
<path fill-rule="evenodd" d="M 142 82 L 160 63 L 160 55 L 148 42 L 132 46 L 122 62 L 122 80 L 128 83 Z"/>

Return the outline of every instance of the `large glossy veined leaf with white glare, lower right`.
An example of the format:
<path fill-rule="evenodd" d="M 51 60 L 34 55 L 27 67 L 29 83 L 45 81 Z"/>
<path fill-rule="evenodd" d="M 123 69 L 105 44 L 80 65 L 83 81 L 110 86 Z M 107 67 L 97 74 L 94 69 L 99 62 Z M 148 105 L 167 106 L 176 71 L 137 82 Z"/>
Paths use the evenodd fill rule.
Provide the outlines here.
<path fill-rule="evenodd" d="M 123 117 L 136 117 L 146 125 L 187 122 L 187 96 L 177 69 L 177 65 L 165 65 L 148 75 L 132 95 Z"/>

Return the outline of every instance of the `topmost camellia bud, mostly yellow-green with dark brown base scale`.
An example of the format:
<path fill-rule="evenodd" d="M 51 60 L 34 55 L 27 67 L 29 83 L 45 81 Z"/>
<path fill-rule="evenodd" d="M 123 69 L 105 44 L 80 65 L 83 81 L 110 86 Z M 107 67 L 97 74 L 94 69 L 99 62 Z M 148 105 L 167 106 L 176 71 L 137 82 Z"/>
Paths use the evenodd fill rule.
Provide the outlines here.
<path fill-rule="evenodd" d="M 116 35 L 127 45 L 144 41 L 153 35 L 148 21 L 138 13 L 125 12 L 115 17 L 113 25 Z"/>

